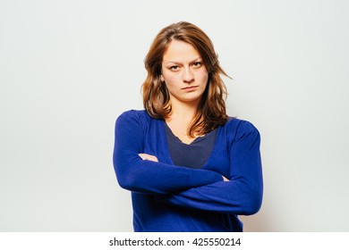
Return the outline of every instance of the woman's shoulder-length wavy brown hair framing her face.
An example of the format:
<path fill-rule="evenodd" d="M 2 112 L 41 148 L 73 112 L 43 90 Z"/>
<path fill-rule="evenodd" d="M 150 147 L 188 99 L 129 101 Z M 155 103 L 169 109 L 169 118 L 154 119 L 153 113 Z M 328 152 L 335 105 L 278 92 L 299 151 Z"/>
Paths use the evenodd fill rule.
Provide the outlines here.
<path fill-rule="evenodd" d="M 190 22 L 180 21 L 161 29 L 155 37 L 144 64 L 148 71 L 142 85 L 143 105 L 149 115 L 165 120 L 172 111 L 170 96 L 165 82 L 160 79 L 161 64 L 166 49 L 173 40 L 192 45 L 200 54 L 209 73 L 208 85 L 201 96 L 200 104 L 194 115 L 188 134 L 204 135 L 228 119 L 226 115 L 226 85 L 221 75 L 229 78 L 220 67 L 217 54 L 209 37 Z"/>

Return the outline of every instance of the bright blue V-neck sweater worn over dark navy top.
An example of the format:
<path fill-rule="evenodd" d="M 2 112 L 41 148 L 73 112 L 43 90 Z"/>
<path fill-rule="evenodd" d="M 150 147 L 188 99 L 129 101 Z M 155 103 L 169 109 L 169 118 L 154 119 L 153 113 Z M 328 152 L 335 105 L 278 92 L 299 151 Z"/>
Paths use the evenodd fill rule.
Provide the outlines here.
<path fill-rule="evenodd" d="M 146 111 L 123 112 L 115 124 L 113 160 L 119 185 L 132 191 L 134 231 L 242 231 L 237 215 L 260 210 L 260 133 L 248 121 L 230 119 L 219 127 L 209 160 L 191 169 L 172 162 L 165 121 Z"/>

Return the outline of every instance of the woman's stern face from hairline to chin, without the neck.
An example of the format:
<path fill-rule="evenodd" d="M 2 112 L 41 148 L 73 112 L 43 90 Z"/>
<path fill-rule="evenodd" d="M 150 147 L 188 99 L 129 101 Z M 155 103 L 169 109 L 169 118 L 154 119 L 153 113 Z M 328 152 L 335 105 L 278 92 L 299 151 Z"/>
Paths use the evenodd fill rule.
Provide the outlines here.
<path fill-rule="evenodd" d="M 160 78 L 166 83 L 172 103 L 199 104 L 209 74 L 192 45 L 173 40 L 164 54 Z"/>

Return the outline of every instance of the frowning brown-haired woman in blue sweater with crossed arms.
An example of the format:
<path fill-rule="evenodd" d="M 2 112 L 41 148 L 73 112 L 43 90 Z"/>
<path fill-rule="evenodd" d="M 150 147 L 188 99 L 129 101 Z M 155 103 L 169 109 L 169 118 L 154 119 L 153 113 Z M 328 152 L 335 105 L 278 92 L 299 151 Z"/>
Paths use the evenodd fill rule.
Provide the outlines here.
<path fill-rule="evenodd" d="M 242 231 L 260 210 L 260 134 L 226 115 L 209 37 L 189 22 L 162 29 L 145 58 L 145 111 L 115 125 L 114 166 L 132 191 L 135 231 Z"/>

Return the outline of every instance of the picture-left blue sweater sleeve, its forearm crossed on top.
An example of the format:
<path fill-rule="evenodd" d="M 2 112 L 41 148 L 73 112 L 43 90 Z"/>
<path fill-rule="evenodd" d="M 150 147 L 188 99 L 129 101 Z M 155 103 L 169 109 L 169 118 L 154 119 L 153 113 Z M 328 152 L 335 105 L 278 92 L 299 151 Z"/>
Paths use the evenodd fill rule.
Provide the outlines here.
<path fill-rule="evenodd" d="M 215 171 L 142 160 L 144 126 L 144 119 L 135 111 L 124 112 L 116 120 L 113 162 L 121 187 L 145 194 L 169 194 L 222 180 Z"/>

